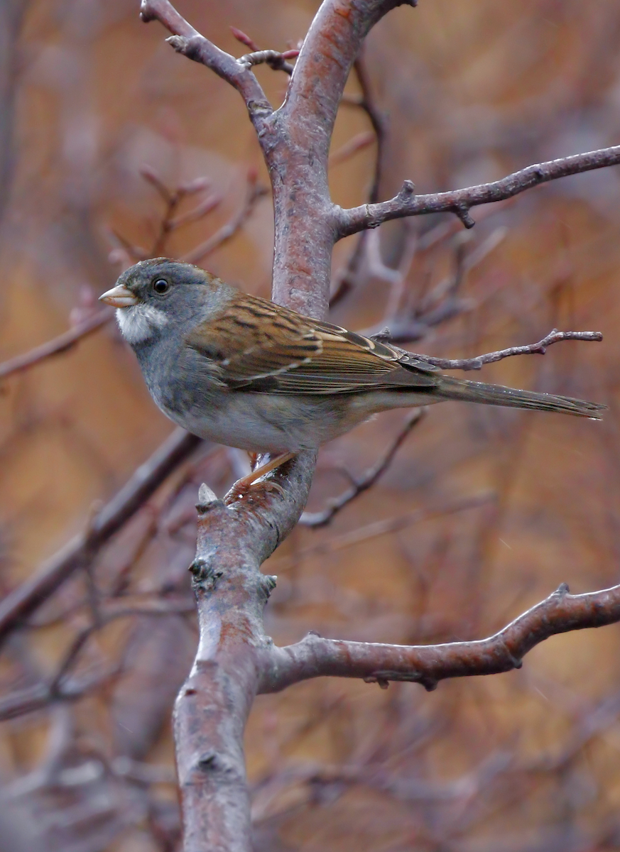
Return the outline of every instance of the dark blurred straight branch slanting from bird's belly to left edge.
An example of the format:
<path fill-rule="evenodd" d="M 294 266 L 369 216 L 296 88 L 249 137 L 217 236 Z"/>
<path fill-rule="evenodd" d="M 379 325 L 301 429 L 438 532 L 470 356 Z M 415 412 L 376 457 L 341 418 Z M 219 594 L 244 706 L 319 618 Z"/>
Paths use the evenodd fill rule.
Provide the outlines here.
<path fill-rule="evenodd" d="M 141 465 L 127 484 L 90 521 L 85 533 L 72 538 L 30 579 L 0 602 L 0 640 L 49 599 L 78 568 L 93 560 L 102 544 L 123 527 L 169 474 L 201 444 L 184 429 L 172 435 Z"/>

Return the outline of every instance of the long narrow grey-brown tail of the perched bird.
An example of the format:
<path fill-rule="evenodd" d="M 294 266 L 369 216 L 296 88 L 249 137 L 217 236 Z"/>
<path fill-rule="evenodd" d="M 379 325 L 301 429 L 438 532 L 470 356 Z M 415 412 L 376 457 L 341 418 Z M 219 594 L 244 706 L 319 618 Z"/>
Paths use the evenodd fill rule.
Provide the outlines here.
<path fill-rule="evenodd" d="M 437 390 L 445 400 L 465 400 L 482 402 L 487 406 L 508 406 L 510 408 L 532 408 L 540 412 L 560 412 L 575 417 L 591 417 L 600 420 L 607 406 L 598 402 L 573 400 L 570 396 L 538 394 L 533 390 L 504 388 L 501 384 L 469 382 L 465 378 L 442 376 Z"/>

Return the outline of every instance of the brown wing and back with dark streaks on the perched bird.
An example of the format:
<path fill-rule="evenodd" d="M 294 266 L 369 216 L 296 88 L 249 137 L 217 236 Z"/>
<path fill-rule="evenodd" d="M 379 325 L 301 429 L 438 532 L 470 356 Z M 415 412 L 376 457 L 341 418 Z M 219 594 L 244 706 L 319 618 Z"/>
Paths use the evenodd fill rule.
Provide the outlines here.
<path fill-rule="evenodd" d="M 215 362 L 223 383 L 238 389 L 335 394 L 428 387 L 439 377 L 435 367 L 402 349 L 242 293 L 187 343 Z"/>

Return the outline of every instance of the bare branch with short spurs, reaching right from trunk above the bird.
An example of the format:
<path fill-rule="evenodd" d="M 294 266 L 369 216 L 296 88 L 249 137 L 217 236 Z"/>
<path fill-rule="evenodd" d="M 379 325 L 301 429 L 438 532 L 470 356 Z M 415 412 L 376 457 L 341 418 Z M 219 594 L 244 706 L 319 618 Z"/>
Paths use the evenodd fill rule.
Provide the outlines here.
<path fill-rule="evenodd" d="M 411 181 L 405 181 L 399 194 L 379 204 L 362 204 L 349 210 L 339 210 L 338 238 L 347 237 L 369 227 L 378 227 L 390 219 L 404 216 L 423 216 L 428 213 L 454 213 L 465 227 L 474 227 L 469 209 L 476 204 L 490 204 L 523 193 L 540 183 L 555 181 L 559 177 L 577 175 L 583 171 L 604 169 L 620 164 L 620 145 L 562 157 L 548 163 L 530 165 L 503 177 L 501 181 L 481 183 L 477 187 L 456 189 L 450 193 L 416 195 Z"/>

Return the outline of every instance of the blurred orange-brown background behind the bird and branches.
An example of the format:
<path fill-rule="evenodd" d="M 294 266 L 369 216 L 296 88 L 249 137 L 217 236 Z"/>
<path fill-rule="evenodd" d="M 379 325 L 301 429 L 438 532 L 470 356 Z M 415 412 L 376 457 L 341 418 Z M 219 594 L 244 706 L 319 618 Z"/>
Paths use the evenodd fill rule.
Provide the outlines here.
<path fill-rule="evenodd" d="M 284 50 L 305 35 L 317 3 L 179 0 L 178 9 L 241 55 L 247 49 L 230 26 L 261 48 Z M 92 312 L 118 275 L 111 252 L 118 261 L 125 244 L 154 245 L 164 203 L 144 166 L 171 188 L 209 179 L 181 211 L 221 195 L 207 216 L 171 234 L 169 256 L 237 216 L 249 173 L 268 185 L 236 92 L 176 55 L 166 36 L 157 23 L 141 24 L 137 0 L 0 7 L 0 360 Z M 423 0 L 396 9 L 364 55 L 387 123 L 381 197 L 405 178 L 420 193 L 464 187 L 617 143 L 619 37 L 612 0 Z M 256 72 L 279 103 L 287 78 L 265 66 Z M 352 78 L 347 93 L 358 92 Z M 333 150 L 369 127 L 365 112 L 343 102 Z M 336 158 L 336 202 L 365 201 L 375 155 L 370 145 Z M 454 315 L 419 328 L 409 344 L 445 357 L 534 343 L 553 327 L 600 330 L 604 343 L 560 343 L 544 358 L 487 366 L 481 377 L 602 401 L 610 411 L 593 423 L 433 406 L 376 486 L 329 526 L 298 527 L 267 563 L 278 574 L 266 617 L 275 642 L 310 629 L 372 642 L 479 638 L 560 582 L 573 592 L 617 582 L 619 202 L 620 171 L 600 170 L 474 209 L 471 232 L 444 216 L 393 222 L 378 232 L 380 245 L 370 240 L 333 321 L 389 325 L 390 306 L 418 321 L 453 298 Z M 265 194 L 204 265 L 268 296 L 272 242 Z M 335 281 L 354 245 L 336 246 Z M 89 523 L 171 424 L 112 323 L 1 390 L 6 593 Z M 375 463 L 406 413 L 384 414 L 325 447 L 309 508 L 324 507 L 347 477 Z M 197 635 L 186 570 L 192 505 L 201 481 L 224 493 L 243 463 L 204 447 L 6 643 L 0 686 L 10 697 L 49 682 L 99 605 L 171 591 L 187 599 L 186 612 L 94 630 L 67 673 L 92 677 L 93 688 L 2 723 L 2 852 L 178 848 L 169 716 Z M 449 511 L 479 496 L 478 508 Z M 432 517 L 373 534 L 376 521 L 424 507 Z M 357 543 L 339 538 L 353 531 Z M 246 743 L 256 849 L 620 848 L 619 645 L 615 626 L 557 636 L 521 671 L 443 682 L 431 694 L 415 684 L 382 691 L 319 680 L 261 696 Z"/>

